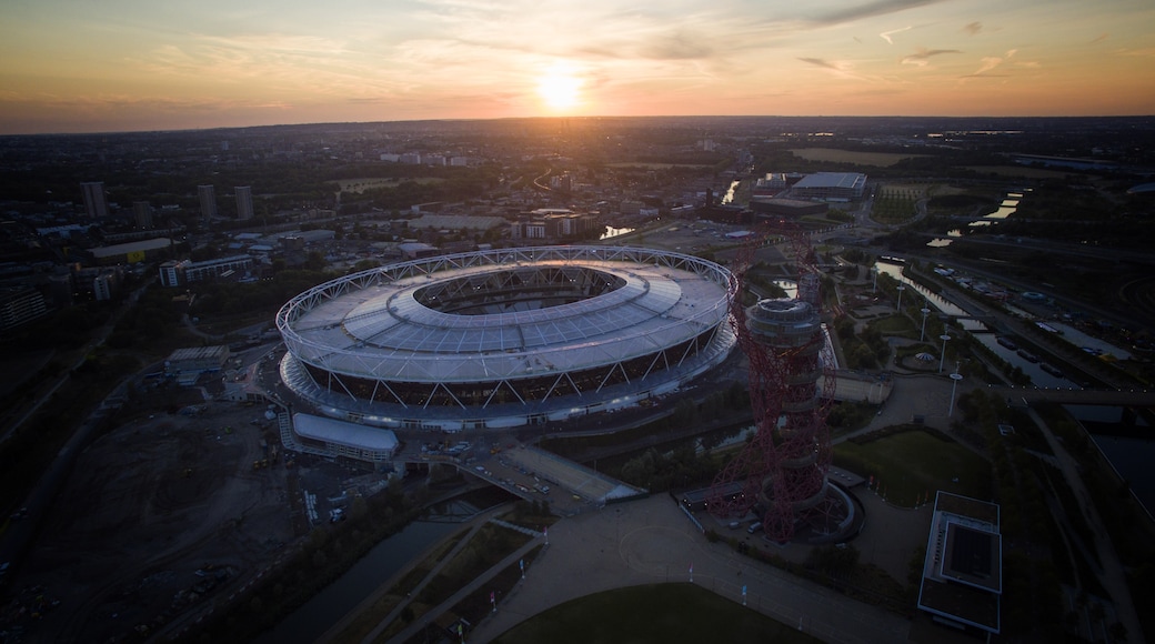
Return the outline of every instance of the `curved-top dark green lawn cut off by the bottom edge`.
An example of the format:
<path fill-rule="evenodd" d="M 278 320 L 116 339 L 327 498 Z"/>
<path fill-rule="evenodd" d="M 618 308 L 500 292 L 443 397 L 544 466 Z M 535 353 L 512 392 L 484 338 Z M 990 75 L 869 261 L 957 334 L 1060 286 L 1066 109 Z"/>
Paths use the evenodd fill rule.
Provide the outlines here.
<path fill-rule="evenodd" d="M 539 613 L 497 644 L 820 642 L 694 584 L 650 584 L 590 594 Z"/>

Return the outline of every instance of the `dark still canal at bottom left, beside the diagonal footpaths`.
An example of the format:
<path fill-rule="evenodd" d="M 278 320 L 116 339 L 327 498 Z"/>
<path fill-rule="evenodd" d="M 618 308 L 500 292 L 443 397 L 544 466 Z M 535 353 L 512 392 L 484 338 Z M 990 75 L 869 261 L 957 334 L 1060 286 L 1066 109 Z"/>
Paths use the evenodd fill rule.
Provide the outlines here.
<path fill-rule="evenodd" d="M 427 521 L 417 521 L 401 532 L 382 540 L 336 582 L 293 612 L 271 630 L 258 637 L 255 644 L 308 644 L 333 628 L 353 607 L 377 591 L 403 566 L 419 556 L 431 545 L 448 537 L 461 524 L 445 521 L 480 511 L 462 501 L 433 508 Z M 441 519 L 441 521 L 438 521 Z"/>

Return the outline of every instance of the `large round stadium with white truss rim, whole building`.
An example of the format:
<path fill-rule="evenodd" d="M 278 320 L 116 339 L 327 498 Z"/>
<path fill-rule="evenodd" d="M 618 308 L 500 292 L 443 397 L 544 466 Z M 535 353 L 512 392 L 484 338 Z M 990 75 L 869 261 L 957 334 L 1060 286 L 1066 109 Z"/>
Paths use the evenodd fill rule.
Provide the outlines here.
<path fill-rule="evenodd" d="M 277 313 L 286 387 L 329 417 L 457 432 L 625 409 L 721 364 L 731 274 L 647 248 L 551 246 L 390 264 Z"/>

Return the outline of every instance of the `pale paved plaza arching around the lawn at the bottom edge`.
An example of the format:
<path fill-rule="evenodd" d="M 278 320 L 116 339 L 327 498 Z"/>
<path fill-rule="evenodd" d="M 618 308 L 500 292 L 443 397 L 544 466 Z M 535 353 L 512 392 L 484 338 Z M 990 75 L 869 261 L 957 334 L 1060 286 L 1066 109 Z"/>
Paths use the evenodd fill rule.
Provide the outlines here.
<path fill-rule="evenodd" d="M 489 642 L 542 611 L 590 593 L 688 583 L 691 566 L 693 583 L 736 602 L 745 585 L 750 608 L 826 642 L 906 642 L 910 632 L 906 617 L 755 564 L 724 542 L 708 542 L 669 496 L 564 519 L 552 526 L 549 539 L 550 547 L 526 581 L 477 624 L 470 642 Z"/>

